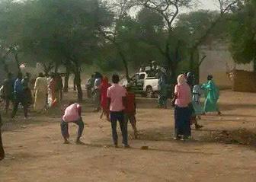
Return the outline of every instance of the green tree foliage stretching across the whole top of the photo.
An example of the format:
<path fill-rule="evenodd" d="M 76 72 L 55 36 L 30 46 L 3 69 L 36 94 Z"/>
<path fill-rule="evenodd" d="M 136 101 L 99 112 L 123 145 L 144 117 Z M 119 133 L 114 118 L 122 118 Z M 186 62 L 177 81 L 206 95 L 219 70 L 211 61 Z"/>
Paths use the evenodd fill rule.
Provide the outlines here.
<path fill-rule="evenodd" d="M 200 42 L 219 13 L 177 15 L 176 8 L 189 7 L 194 1 L 175 3 L 122 0 L 115 1 L 113 8 L 103 0 L 4 0 L 0 2 L 0 44 L 2 49 L 18 46 L 20 53 L 37 57 L 37 62 L 75 60 L 97 64 L 104 71 L 121 71 L 123 62 L 139 69 L 155 59 L 173 72 L 187 71 L 191 47 Z M 140 7 L 136 17 L 128 13 L 133 5 Z M 232 30 L 235 61 L 250 62 L 255 57 L 255 9 L 254 1 L 232 8 L 235 13 L 223 15 L 202 43 L 229 41 Z"/>

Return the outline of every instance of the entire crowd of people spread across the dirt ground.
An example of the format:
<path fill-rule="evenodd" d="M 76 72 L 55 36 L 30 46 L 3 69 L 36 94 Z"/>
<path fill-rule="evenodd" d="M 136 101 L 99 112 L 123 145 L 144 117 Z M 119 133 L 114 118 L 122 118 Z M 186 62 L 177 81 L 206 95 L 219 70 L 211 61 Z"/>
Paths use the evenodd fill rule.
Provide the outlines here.
<path fill-rule="evenodd" d="M 15 117 L 18 106 L 24 107 L 24 117 L 28 117 L 28 108 L 33 103 L 32 94 L 29 86 L 30 77 L 26 74 L 24 77 L 21 73 L 17 78 L 9 73 L 3 85 L 3 98 L 5 99 L 5 110 L 8 113 L 9 104 L 12 102 L 13 111 L 11 117 Z M 178 76 L 177 85 L 174 88 L 174 98 L 171 101 L 174 107 L 174 139 L 187 139 L 191 136 L 191 125 L 194 124 L 196 129 L 200 129 L 197 120 L 200 116 L 208 112 L 216 111 L 221 114 L 217 101 L 219 100 L 219 89 L 213 81 L 213 76 L 207 77 L 208 82 L 203 85 L 194 84 L 194 75 L 190 72 Z M 131 84 L 123 87 L 119 85 L 119 75 L 112 76 L 112 85 L 108 81 L 107 76 L 102 76 L 99 72 L 95 72 L 88 80 L 94 100 L 94 112 L 101 111 L 100 118 L 104 116 L 110 122 L 112 129 L 112 137 L 114 146 L 117 143 L 117 121 L 123 136 L 123 147 L 128 148 L 128 132 L 127 125 L 130 121 L 133 126 L 135 139 L 138 138 L 138 130 L 136 128 L 136 99 L 135 94 L 131 91 Z M 160 91 L 158 104 L 167 107 L 167 89 L 165 77 L 159 77 L 158 82 Z M 206 96 L 204 107 L 201 107 L 200 97 Z M 55 107 L 62 99 L 62 78 L 59 74 L 51 74 L 50 76 L 40 73 L 34 83 L 34 110 L 41 112 L 48 107 Z M 66 108 L 62 117 L 60 128 L 64 139 L 64 143 L 69 143 L 69 123 L 78 125 L 77 143 L 84 129 L 82 120 L 82 107 L 80 104 L 72 102 Z M 1 123 L 0 123 L 1 124 Z M 1 148 L 0 148 L 1 149 Z M 1 157 L 1 156 L 0 156 Z"/>

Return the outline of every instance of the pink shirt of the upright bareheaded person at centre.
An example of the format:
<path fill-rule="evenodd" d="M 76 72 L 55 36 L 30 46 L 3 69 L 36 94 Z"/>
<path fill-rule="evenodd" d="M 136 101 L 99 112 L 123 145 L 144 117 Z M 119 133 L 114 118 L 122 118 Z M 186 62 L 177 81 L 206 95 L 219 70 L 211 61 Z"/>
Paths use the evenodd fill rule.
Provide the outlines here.
<path fill-rule="evenodd" d="M 107 97 L 110 98 L 110 111 L 118 112 L 124 110 L 123 97 L 126 96 L 126 89 L 118 84 L 107 89 Z"/>

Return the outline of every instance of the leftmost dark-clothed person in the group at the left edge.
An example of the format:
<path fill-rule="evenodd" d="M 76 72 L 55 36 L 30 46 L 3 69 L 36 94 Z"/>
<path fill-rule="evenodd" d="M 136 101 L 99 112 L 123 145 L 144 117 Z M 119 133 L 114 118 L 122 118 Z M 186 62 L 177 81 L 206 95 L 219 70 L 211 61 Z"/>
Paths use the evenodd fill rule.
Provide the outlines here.
<path fill-rule="evenodd" d="M 10 102 L 14 104 L 14 78 L 11 72 L 3 84 L 3 99 L 5 100 L 5 112 L 8 113 Z"/>

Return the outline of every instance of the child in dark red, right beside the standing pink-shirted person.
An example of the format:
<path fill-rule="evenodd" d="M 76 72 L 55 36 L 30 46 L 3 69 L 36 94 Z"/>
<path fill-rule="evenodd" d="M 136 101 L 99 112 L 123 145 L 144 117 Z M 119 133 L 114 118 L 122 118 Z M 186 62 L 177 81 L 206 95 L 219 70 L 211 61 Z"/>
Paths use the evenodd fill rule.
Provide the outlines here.
<path fill-rule="evenodd" d="M 131 85 L 126 86 L 126 98 L 124 102 L 124 120 L 128 123 L 130 120 L 131 125 L 133 126 L 134 137 L 138 139 L 138 131 L 136 128 L 136 102 L 135 102 L 135 94 L 131 91 Z"/>

